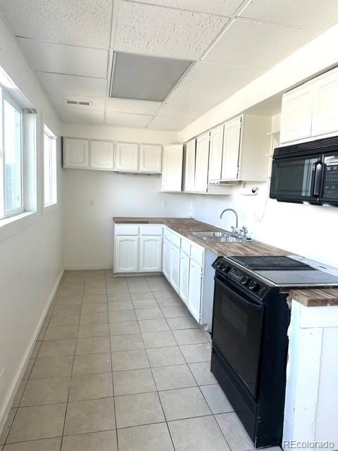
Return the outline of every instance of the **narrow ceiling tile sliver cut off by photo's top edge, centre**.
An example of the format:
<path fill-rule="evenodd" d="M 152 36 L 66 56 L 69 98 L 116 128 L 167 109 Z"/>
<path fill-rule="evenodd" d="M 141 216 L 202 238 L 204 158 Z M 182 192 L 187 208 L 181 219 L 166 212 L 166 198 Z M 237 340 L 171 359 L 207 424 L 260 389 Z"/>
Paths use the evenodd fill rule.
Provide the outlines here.
<path fill-rule="evenodd" d="M 215 14 L 218 16 L 231 16 L 243 0 L 134 0 L 137 3 L 147 3 L 168 8 L 185 9 L 198 13 Z"/>

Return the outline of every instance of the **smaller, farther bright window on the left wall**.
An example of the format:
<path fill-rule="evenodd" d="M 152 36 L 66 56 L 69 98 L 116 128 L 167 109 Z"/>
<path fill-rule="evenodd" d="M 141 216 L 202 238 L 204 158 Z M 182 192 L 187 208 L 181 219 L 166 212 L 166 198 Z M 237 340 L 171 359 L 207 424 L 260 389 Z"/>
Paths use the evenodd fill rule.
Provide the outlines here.
<path fill-rule="evenodd" d="M 56 136 L 44 125 L 44 206 L 56 202 Z"/>

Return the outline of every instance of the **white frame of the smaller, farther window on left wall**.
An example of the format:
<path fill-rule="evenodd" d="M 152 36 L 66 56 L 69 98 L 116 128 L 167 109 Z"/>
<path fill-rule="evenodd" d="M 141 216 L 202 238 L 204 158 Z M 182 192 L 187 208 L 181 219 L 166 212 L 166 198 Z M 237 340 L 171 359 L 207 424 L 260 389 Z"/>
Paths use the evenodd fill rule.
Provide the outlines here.
<path fill-rule="evenodd" d="M 46 149 L 43 146 L 43 207 L 44 209 L 51 209 L 51 207 L 56 206 L 58 204 L 58 163 L 57 163 L 57 149 L 56 149 L 56 140 L 57 136 L 51 131 L 51 129 L 44 123 L 43 129 L 43 138 L 45 139 L 45 135 L 49 139 L 49 192 L 51 192 L 51 202 L 46 204 L 45 192 L 45 156 Z M 43 140 L 44 142 L 44 140 Z M 54 149 L 52 148 L 54 146 Z"/>

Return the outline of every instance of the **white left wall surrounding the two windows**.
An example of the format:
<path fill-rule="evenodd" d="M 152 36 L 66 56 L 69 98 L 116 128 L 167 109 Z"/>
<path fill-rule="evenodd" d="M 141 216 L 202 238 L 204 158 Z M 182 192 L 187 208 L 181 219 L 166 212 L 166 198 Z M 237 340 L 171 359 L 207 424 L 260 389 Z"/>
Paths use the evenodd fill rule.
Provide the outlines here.
<path fill-rule="evenodd" d="M 63 271 L 61 205 L 42 216 L 42 120 L 60 134 L 60 122 L 27 65 L 14 37 L 0 20 L 0 66 L 38 111 L 37 185 L 34 222 L 0 242 L 0 430 L 39 323 Z M 60 140 L 58 140 L 60 159 Z M 60 167 L 60 164 L 58 164 Z M 59 171 L 59 189 L 61 171 Z M 1 225 L 0 225 L 1 227 Z"/>

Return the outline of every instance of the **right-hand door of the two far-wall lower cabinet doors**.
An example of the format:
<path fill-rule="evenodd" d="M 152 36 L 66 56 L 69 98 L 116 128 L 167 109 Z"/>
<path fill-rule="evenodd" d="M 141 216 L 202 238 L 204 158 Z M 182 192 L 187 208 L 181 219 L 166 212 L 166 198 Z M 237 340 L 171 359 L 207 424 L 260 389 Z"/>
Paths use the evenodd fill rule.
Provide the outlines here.
<path fill-rule="evenodd" d="M 139 271 L 162 271 L 162 237 L 140 237 Z"/>

